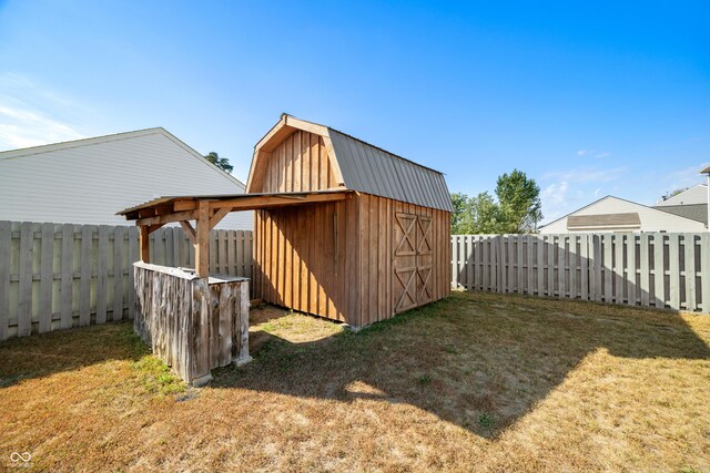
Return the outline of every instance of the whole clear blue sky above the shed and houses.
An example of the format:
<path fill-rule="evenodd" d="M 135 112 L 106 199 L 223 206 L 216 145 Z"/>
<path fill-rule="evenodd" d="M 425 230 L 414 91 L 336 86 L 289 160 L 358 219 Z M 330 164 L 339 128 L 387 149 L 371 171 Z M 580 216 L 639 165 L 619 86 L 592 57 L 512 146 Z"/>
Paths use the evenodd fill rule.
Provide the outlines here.
<path fill-rule="evenodd" d="M 0 0 L 0 150 L 163 126 L 246 179 L 287 112 L 547 222 L 653 204 L 710 164 L 710 3 L 620 3 Z"/>

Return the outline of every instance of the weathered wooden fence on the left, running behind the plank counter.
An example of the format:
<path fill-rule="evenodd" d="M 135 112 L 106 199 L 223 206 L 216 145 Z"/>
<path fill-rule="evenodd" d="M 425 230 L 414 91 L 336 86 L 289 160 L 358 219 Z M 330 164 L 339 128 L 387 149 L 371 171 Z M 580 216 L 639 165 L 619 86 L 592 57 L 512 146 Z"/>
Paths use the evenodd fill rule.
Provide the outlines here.
<path fill-rule="evenodd" d="M 0 222 L 0 340 L 133 318 L 136 227 Z M 151 234 L 151 261 L 194 267 L 179 227 Z M 213 230 L 210 271 L 252 277 L 252 232 Z"/>

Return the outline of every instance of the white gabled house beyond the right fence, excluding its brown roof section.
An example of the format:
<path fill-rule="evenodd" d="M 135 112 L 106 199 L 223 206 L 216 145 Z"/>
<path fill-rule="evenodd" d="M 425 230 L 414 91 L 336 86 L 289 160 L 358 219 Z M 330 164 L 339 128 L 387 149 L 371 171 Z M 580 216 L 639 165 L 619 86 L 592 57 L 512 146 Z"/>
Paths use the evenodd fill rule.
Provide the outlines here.
<path fill-rule="evenodd" d="M 617 197 L 605 197 L 587 207 L 580 208 L 558 220 L 555 220 L 542 228 L 541 234 L 566 234 L 580 233 L 582 230 L 567 229 L 567 217 L 571 215 L 599 215 L 599 214 L 626 214 L 638 213 L 641 219 L 641 227 L 635 232 L 668 232 L 668 233 L 697 233 L 707 232 L 706 226 L 689 218 L 679 217 L 662 210 L 657 210 L 633 202 L 623 200 Z M 595 228 L 584 232 L 615 232 L 612 228 Z"/>

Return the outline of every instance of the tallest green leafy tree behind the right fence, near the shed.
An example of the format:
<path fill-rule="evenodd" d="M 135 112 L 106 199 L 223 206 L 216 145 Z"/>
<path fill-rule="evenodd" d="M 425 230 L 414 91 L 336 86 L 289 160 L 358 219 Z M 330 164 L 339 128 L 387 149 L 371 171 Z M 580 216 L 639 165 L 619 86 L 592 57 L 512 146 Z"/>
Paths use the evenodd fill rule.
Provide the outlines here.
<path fill-rule="evenodd" d="M 496 186 L 500 225 L 498 233 L 520 234 L 537 230 L 542 219 L 540 186 L 523 171 L 498 177 Z"/>

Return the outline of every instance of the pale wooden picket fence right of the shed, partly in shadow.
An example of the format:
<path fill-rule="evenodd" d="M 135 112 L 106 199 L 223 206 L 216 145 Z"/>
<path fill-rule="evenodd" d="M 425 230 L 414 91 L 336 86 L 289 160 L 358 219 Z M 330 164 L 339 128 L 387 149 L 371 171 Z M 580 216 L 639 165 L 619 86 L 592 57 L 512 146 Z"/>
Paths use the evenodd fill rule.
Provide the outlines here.
<path fill-rule="evenodd" d="M 710 312 L 710 233 L 453 235 L 468 290 Z"/>

